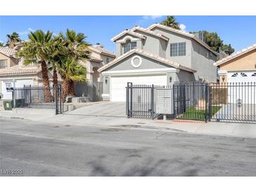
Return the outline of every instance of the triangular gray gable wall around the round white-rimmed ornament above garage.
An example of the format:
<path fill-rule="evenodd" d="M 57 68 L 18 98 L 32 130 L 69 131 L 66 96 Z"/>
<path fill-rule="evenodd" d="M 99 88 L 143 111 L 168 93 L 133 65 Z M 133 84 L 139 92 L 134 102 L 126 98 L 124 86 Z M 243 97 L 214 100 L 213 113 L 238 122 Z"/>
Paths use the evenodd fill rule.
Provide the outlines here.
<path fill-rule="evenodd" d="M 137 67 L 137 68 L 133 67 L 133 65 L 131 64 L 132 57 L 134 57 L 135 55 L 142 58 L 142 64 L 140 65 L 140 67 Z M 134 53 L 126 57 L 125 59 L 117 62 L 116 64 L 114 64 L 112 67 L 109 67 L 105 71 L 134 70 L 134 69 L 160 69 L 160 68 L 173 68 L 173 67 L 167 64 L 158 62 L 156 60 L 152 60 L 148 57 L 144 57 L 137 53 Z"/>

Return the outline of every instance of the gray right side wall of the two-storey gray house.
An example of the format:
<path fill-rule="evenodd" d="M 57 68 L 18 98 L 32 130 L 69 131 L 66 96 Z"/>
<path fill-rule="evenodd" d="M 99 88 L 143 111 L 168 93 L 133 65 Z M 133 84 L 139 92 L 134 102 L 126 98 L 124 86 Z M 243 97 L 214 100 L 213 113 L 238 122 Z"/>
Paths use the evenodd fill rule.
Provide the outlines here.
<path fill-rule="evenodd" d="M 207 79 L 215 82 L 217 79 L 217 69 L 213 63 L 217 60 L 217 56 L 196 41 L 192 41 L 192 65 L 191 68 L 196 70 L 195 78 Z"/>

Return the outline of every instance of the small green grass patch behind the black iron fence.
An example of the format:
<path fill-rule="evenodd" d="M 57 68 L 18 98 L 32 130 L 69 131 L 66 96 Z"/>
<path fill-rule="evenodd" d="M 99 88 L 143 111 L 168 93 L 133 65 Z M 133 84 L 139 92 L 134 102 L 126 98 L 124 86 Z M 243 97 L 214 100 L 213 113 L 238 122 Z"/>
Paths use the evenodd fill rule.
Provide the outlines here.
<path fill-rule="evenodd" d="M 212 111 L 210 114 L 210 118 L 214 116 L 217 111 L 220 110 L 220 106 L 212 106 Z M 189 109 L 184 112 L 181 116 L 178 116 L 177 118 L 182 118 L 182 119 L 194 119 L 194 120 L 201 120 L 205 121 L 206 120 L 206 110 L 198 110 L 196 107 L 192 106 L 189 107 Z"/>

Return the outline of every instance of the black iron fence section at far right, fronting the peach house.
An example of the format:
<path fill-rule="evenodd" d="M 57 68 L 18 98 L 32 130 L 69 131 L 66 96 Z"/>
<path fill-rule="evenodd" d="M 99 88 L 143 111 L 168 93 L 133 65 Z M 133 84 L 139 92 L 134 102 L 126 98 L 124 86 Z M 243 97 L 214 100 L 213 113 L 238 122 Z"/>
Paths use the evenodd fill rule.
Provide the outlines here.
<path fill-rule="evenodd" d="M 211 121 L 256 123 L 256 83 L 210 85 L 211 107 L 218 111 Z"/>

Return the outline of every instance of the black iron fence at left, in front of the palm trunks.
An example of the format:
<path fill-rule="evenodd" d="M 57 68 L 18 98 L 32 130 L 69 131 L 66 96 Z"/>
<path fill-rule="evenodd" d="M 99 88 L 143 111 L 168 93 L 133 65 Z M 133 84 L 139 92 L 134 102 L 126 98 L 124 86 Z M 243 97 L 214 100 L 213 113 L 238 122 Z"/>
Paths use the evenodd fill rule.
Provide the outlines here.
<path fill-rule="evenodd" d="M 32 109 L 55 109 L 56 114 L 63 111 L 62 88 L 57 87 L 43 88 L 37 86 L 24 86 L 23 88 L 13 89 L 14 108 Z"/>

